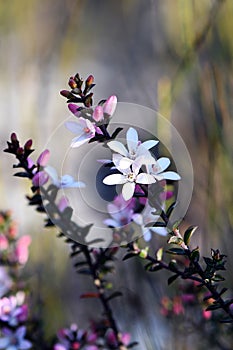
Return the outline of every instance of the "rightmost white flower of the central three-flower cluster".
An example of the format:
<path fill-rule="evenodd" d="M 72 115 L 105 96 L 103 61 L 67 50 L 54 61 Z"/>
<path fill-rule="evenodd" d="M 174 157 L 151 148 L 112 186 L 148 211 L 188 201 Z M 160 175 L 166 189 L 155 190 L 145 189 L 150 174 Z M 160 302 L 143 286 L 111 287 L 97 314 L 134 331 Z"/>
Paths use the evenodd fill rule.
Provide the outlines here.
<path fill-rule="evenodd" d="M 156 181 L 160 181 L 164 179 L 174 180 L 174 181 L 180 180 L 181 177 L 176 172 L 164 171 L 169 167 L 170 163 L 171 161 L 169 158 L 161 157 L 155 162 L 155 164 L 148 165 L 147 171 L 149 174 L 151 174 L 155 178 Z"/>

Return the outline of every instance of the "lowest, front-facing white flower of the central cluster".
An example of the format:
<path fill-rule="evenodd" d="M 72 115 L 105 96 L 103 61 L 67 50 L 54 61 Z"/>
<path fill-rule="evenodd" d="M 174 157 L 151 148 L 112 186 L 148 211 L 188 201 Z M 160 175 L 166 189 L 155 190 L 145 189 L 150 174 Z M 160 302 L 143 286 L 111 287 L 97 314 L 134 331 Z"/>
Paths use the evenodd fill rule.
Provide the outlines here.
<path fill-rule="evenodd" d="M 122 196 L 124 200 L 129 200 L 133 197 L 136 183 L 149 185 L 155 183 L 155 179 L 152 175 L 146 173 L 140 173 L 141 164 L 133 163 L 130 168 L 121 169 L 116 166 L 122 174 L 112 174 L 108 175 L 103 179 L 105 185 L 118 185 L 123 184 Z"/>

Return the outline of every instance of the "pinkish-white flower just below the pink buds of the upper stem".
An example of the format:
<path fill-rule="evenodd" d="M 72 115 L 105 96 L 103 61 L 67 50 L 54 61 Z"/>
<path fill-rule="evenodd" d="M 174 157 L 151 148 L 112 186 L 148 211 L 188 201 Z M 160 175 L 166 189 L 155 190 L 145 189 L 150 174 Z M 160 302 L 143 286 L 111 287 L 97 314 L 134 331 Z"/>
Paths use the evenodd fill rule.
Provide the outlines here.
<path fill-rule="evenodd" d="M 83 117 L 78 118 L 77 122 L 66 122 L 65 126 L 68 130 L 77 134 L 71 142 L 73 148 L 81 146 L 95 136 L 95 125 Z"/>

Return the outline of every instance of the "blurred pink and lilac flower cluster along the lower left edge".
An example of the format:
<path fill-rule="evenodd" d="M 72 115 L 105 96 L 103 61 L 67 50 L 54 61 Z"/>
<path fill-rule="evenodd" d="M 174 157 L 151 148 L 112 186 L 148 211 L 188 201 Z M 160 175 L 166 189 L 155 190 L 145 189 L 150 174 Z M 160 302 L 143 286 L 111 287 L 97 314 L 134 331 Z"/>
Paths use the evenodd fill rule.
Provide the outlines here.
<path fill-rule="evenodd" d="M 16 224 L 10 212 L 0 213 L 0 349 L 27 350 L 32 343 L 25 339 L 28 305 L 25 292 L 15 273 L 28 260 L 31 238 L 18 238 Z M 22 286 L 22 284 L 21 284 Z M 12 290 L 16 292 L 12 293 Z M 18 290 L 18 291 L 17 291 Z"/>

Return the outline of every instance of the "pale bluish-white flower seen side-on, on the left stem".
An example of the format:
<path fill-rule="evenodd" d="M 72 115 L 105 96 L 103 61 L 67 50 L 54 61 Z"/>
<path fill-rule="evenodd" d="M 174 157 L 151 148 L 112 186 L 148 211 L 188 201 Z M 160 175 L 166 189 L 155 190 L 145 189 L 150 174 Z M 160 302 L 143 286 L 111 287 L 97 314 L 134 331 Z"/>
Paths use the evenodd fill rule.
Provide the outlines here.
<path fill-rule="evenodd" d="M 83 182 L 75 181 L 71 175 L 63 175 L 59 178 L 56 169 L 51 166 L 45 167 L 44 171 L 49 175 L 53 184 L 58 188 L 85 187 Z"/>

